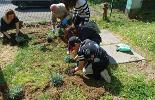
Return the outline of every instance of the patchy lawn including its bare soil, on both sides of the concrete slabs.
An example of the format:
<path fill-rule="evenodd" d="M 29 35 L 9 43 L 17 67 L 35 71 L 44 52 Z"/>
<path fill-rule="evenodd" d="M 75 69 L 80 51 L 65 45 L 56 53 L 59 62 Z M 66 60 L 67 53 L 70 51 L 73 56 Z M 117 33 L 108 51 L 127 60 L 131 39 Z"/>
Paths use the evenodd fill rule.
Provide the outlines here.
<path fill-rule="evenodd" d="M 155 22 L 129 20 L 122 12 L 116 10 L 110 22 L 106 22 L 101 17 L 101 6 L 96 5 L 92 9 L 94 12 L 97 10 L 93 14 L 98 16 L 93 16 L 92 19 L 101 29 L 109 29 L 125 37 L 125 41 L 134 47 L 139 47 L 146 58 L 152 59 L 155 56 Z M 10 98 L 23 94 L 21 99 L 27 100 L 155 99 L 154 60 L 111 65 L 109 68 L 112 76 L 111 84 L 88 80 L 81 72 L 70 77 L 65 71 L 74 64 L 64 62 L 65 44 L 59 39 L 54 39 L 51 44 L 46 42 L 50 26 L 30 26 L 22 31 L 31 37 L 28 46 L 18 48 L 7 46 L 6 51 L 11 52 L 11 55 L 9 58 L 6 56 L 8 59 L 2 59 L 3 65 L 0 69 L 0 83 L 7 83 Z M 6 46 L 0 44 L 0 48 Z M 2 55 L 4 51 L 2 49 L 0 51 Z M 52 85 L 53 73 L 59 73 L 63 77 L 62 86 Z"/>

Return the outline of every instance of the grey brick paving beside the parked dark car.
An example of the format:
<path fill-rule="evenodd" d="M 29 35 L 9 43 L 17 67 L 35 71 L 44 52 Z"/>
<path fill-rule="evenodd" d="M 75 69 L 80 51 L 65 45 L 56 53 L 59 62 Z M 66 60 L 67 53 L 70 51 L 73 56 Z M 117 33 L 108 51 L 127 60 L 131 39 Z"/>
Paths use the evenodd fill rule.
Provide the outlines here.
<path fill-rule="evenodd" d="M 51 19 L 51 13 L 48 8 L 27 8 L 25 10 L 20 10 L 11 3 L 2 4 L 0 2 L 0 17 L 3 16 L 6 9 L 15 10 L 20 20 L 25 23 L 50 21 Z"/>

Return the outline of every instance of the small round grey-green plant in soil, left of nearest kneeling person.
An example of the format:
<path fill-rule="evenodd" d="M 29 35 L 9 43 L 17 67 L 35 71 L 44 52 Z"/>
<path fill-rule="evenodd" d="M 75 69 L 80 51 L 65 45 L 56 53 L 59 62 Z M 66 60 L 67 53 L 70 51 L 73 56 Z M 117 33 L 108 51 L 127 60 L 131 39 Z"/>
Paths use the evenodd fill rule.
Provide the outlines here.
<path fill-rule="evenodd" d="M 53 73 L 51 76 L 51 82 L 54 86 L 61 86 L 63 84 L 63 76 L 59 73 Z"/>

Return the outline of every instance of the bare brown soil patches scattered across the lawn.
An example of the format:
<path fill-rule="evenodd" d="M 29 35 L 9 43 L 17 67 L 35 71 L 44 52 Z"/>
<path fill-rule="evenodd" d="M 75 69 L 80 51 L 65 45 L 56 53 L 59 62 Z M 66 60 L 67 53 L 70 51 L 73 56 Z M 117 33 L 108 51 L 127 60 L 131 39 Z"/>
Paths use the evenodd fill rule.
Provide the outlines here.
<path fill-rule="evenodd" d="M 35 28 L 35 30 L 33 30 Z M 45 32 L 40 34 L 40 30 L 49 30 L 49 25 L 27 25 L 25 28 L 23 28 L 23 32 L 27 34 L 35 34 L 37 36 L 38 41 L 34 41 L 32 45 L 45 43 Z M 33 30 L 33 31 L 32 31 Z M 9 45 L 0 46 L 0 67 L 3 69 L 3 67 L 10 62 L 13 61 L 16 52 L 18 50 L 18 47 L 12 47 Z M 153 69 L 153 61 L 144 61 L 144 62 L 134 62 L 126 64 L 129 66 L 128 72 L 130 74 L 134 74 L 137 72 L 145 73 L 147 76 L 147 79 L 155 79 L 155 69 Z M 39 66 L 36 64 L 35 66 Z M 55 66 L 55 65 L 53 65 Z M 134 66 L 134 67 L 133 67 Z M 27 83 L 24 87 L 24 95 L 22 97 L 23 100 L 31 100 L 34 98 L 34 96 L 37 96 L 41 94 L 42 92 L 47 92 L 50 94 L 53 100 L 58 100 L 60 98 L 60 95 L 63 91 L 69 89 L 72 86 L 78 86 L 81 90 L 84 91 L 84 95 L 86 96 L 87 100 L 98 100 L 101 96 L 103 96 L 107 90 L 104 88 L 104 81 L 96 81 L 93 79 L 88 79 L 87 77 L 84 77 L 81 75 L 81 73 L 78 73 L 75 76 L 69 77 L 64 71 L 64 69 L 61 69 L 60 72 L 65 77 L 64 84 L 61 87 L 53 87 L 52 84 L 47 82 L 43 87 L 35 88 L 33 84 Z M 119 97 L 114 96 L 115 100 L 118 100 Z M 0 93 L 0 100 L 3 100 L 1 98 Z"/>

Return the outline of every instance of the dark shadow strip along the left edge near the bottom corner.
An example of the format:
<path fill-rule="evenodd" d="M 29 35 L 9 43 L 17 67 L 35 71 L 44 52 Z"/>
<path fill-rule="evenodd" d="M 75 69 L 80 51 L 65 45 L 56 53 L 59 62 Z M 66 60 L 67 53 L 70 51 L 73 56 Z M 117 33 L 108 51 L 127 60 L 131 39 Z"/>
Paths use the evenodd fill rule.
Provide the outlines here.
<path fill-rule="evenodd" d="M 8 95 L 6 91 L 8 91 L 8 85 L 0 67 L 0 100 L 7 100 Z"/>

